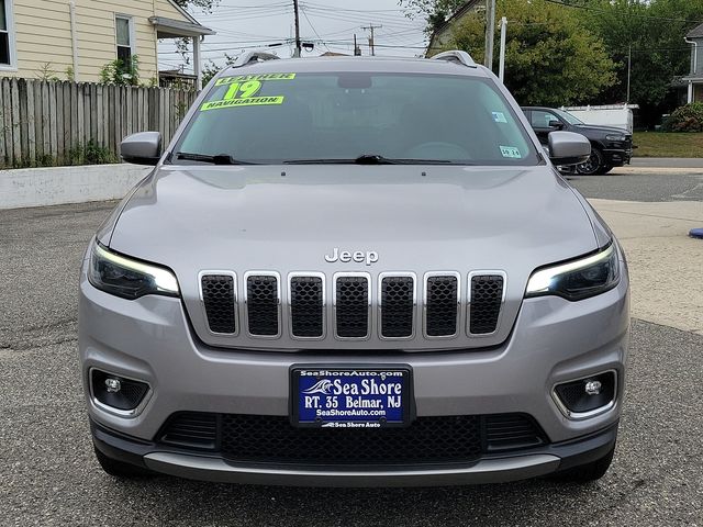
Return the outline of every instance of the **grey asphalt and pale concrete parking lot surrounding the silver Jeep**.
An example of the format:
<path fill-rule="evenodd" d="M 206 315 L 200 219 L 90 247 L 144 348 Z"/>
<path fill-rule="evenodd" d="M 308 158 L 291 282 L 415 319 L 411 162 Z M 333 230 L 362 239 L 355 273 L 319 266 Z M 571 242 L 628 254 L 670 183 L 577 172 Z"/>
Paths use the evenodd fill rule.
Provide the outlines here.
<path fill-rule="evenodd" d="M 657 228 L 669 235 L 703 208 L 703 169 L 628 169 L 571 182 L 600 200 L 609 221 L 634 214 L 622 202 L 662 211 L 681 203 L 685 217 L 640 213 L 662 220 Z M 76 352 L 79 262 L 113 205 L 0 211 L 2 525 L 703 525 L 703 326 L 694 313 L 702 299 L 693 287 L 693 298 L 670 303 L 656 289 L 657 273 L 701 281 L 703 242 L 629 236 L 629 224 L 625 231 L 635 276 L 627 401 L 614 464 L 598 483 L 334 490 L 121 482 L 93 459 Z M 681 269 L 655 267 L 672 247 L 688 255 L 672 264 Z M 655 294 L 636 290 L 646 280 Z M 659 318 L 671 305 L 693 316 Z"/>

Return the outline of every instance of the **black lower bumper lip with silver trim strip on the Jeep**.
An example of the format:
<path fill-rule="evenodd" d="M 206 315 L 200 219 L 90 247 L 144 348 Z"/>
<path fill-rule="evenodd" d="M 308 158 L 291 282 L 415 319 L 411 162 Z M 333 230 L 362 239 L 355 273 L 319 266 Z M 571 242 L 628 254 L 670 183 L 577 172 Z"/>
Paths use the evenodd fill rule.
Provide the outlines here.
<path fill-rule="evenodd" d="M 547 475 L 585 464 L 615 446 L 617 424 L 576 440 L 521 452 L 484 456 L 468 464 L 339 470 L 288 464 L 232 463 L 215 455 L 165 449 L 120 435 L 91 422 L 93 444 L 105 456 L 155 472 L 219 483 L 284 486 L 435 486 L 483 484 Z"/>

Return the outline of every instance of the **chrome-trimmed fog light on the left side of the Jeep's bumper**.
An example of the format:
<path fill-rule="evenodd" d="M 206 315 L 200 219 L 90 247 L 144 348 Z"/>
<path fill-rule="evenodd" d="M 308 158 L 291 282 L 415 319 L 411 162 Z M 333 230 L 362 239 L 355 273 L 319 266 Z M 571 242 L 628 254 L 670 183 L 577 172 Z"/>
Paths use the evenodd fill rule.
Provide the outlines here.
<path fill-rule="evenodd" d="M 149 391 L 146 382 L 94 368 L 90 370 L 90 388 L 98 406 L 118 414 L 134 413 Z"/>

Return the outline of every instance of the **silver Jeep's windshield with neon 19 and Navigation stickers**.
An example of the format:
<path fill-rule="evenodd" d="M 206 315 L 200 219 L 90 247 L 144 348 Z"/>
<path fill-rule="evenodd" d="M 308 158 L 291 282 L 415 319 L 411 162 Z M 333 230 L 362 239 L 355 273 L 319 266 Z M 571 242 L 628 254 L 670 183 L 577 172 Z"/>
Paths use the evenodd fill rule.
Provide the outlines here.
<path fill-rule="evenodd" d="M 220 78 L 174 152 L 189 164 L 539 162 L 490 81 L 406 74 Z"/>

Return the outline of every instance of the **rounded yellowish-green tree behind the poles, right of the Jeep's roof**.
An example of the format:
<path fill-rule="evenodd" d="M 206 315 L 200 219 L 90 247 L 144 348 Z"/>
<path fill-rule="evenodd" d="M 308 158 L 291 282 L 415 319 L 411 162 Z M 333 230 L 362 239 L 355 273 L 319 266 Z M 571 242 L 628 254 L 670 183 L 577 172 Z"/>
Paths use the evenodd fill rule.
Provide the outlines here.
<path fill-rule="evenodd" d="M 546 0 L 498 0 L 501 16 L 509 18 L 505 85 L 521 104 L 589 103 L 615 82 L 615 65 L 603 42 L 573 10 Z M 484 15 L 469 14 L 456 25 L 446 48 L 465 49 L 482 63 L 484 31 Z M 495 36 L 498 49 L 499 32 Z M 498 53 L 493 58 L 498 70 Z"/>

